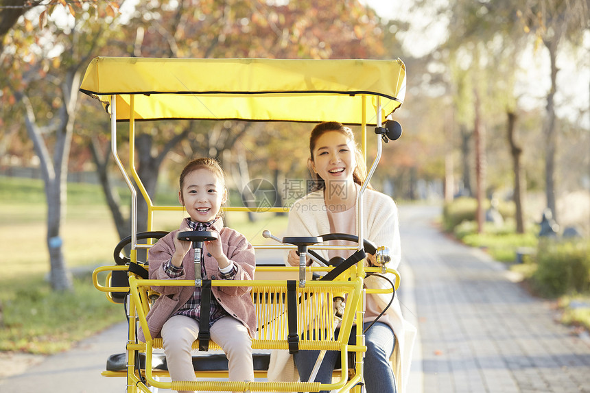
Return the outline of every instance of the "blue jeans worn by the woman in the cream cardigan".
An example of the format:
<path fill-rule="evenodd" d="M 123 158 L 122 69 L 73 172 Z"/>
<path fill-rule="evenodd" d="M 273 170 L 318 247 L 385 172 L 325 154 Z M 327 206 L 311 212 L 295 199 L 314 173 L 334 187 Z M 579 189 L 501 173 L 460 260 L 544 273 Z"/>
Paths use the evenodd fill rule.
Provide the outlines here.
<path fill-rule="evenodd" d="M 370 322 L 364 323 L 366 329 Z M 349 344 L 354 344 L 356 327 L 353 326 Z M 338 333 L 338 331 L 337 331 Z M 389 357 L 395 346 L 395 335 L 389 325 L 375 322 L 365 333 L 367 351 L 364 358 L 364 381 L 367 393 L 397 393 L 395 377 L 389 364 Z M 294 355 L 295 364 L 301 381 L 308 381 L 311 370 L 314 370 L 319 350 L 299 350 Z M 340 352 L 329 350 L 322 361 L 322 366 L 316 375 L 316 382 L 332 383 L 332 372 L 336 362 L 340 359 Z M 322 390 L 320 393 L 329 393 Z"/>

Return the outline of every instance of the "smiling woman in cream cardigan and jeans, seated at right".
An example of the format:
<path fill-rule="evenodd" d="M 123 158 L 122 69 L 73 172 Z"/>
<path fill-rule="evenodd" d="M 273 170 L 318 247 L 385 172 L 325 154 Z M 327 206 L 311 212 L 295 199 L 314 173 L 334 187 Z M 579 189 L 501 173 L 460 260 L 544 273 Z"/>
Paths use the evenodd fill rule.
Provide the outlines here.
<path fill-rule="evenodd" d="M 357 200 L 362 181 L 366 177 L 364 160 L 355 145 L 354 134 L 341 123 L 329 121 L 318 124 L 309 140 L 309 169 L 314 176 L 315 191 L 294 203 L 289 214 L 289 236 L 318 236 L 326 233 L 357 234 Z M 397 206 L 383 193 L 366 189 L 363 195 L 364 237 L 377 246 L 390 250 L 389 267 L 397 268 L 401 258 Z M 334 243 L 332 243 L 334 244 Z M 344 244 L 338 242 L 338 244 Z M 350 245 L 350 243 L 348 243 Z M 322 257 L 349 257 L 351 250 L 321 250 Z M 375 257 L 369 255 L 366 263 Z M 294 250 L 287 263 L 298 265 Z M 387 274 L 394 281 L 393 274 Z M 365 287 L 389 289 L 383 278 L 369 276 Z M 366 296 L 363 329 L 375 321 L 391 300 L 390 294 Z M 351 337 L 355 337 L 356 326 Z M 364 359 L 364 379 L 368 393 L 403 392 L 410 369 L 410 359 L 416 329 L 403 319 L 397 296 L 386 313 L 366 331 L 367 352 Z M 269 379 L 285 381 L 296 379 L 294 366 L 301 381 L 308 381 L 318 351 L 300 350 L 293 358 L 286 351 L 272 353 Z M 331 383 L 338 353 L 329 351 L 315 381 Z"/>

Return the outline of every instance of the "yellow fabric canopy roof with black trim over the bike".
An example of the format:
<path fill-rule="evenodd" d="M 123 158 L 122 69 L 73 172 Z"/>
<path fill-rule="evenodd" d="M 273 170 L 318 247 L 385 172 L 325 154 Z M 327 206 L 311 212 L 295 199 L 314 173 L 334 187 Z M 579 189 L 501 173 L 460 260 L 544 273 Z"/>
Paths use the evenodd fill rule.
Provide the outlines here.
<path fill-rule="evenodd" d="M 117 120 L 242 119 L 375 124 L 405 97 L 401 60 L 279 60 L 108 58 L 92 60 L 80 91 L 109 110 L 117 95 Z M 363 102 L 363 96 L 366 99 Z"/>

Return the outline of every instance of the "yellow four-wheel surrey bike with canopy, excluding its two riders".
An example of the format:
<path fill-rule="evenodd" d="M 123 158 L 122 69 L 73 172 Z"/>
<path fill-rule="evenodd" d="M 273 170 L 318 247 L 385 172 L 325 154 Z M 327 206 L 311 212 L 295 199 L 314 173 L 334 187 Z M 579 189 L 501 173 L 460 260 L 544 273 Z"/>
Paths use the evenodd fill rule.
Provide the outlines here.
<path fill-rule="evenodd" d="M 360 392 L 363 382 L 364 336 L 359 329 L 355 344 L 349 345 L 355 321 L 362 326 L 364 294 L 390 293 L 399 286 L 399 274 L 387 267 L 388 253 L 384 247 L 364 239 L 362 203 L 357 206 L 357 234 L 317 234 L 316 237 L 283 237 L 281 244 L 254 245 L 257 249 L 296 248 L 299 267 L 257 266 L 253 281 L 225 281 L 198 278 L 188 280 L 150 280 L 147 264 L 139 261 L 138 251 L 150 248 L 154 239 L 167 232 L 153 228 L 154 213 L 182 210 L 181 206 L 158 206 L 147 194 L 135 167 L 135 125 L 137 121 L 165 119 L 212 119 L 241 121 L 294 121 L 318 123 L 338 120 L 360 126 L 362 147 L 366 158 L 369 126 L 375 128 L 377 153 L 361 187 L 362 201 L 366 184 L 381 158 L 382 143 L 401 134 L 399 123 L 391 115 L 401 106 L 405 95 L 405 65 L 401 60 L 271 60 L 271 59 L 161 59 L 161 58 L 95 58 L 86 70 L 80 91 L 95 97 L 110 116 L 111 150 L 131 193 L 130 235 L 115 248 L 115 265 L 98 267 L 93 273 L 94 285 L 104 291 L 108 300 L 123 303 L 128 315 L 128 340 L 121 353 L 107 360 L 105 377 L 126 379 L 127 392 L 150 392 L 158 388 L 172 390 L 209 390 L 241 392 Z M 120 158 L 117 123 L 128 125 L 128 163 Z M 268 136 L 260 135 L 261 138 Z M 305 136 L 307 138 L 307 135 Z M 137 188 L 136 188 L 137 187 Z M 137 195 L 136 189 L 139 190 Z M 147 231 L 137 232 L 137 200 L 147 203 Z M 228 207 L 228 211 L 252 208 Z M 285 211 L 268 208 L 264 211 Z M 195 254 L 211 233 L 184 233 L 193 242 Z M 288 235 L 288 234 L 287 234 Z M 268 231 L 266 237 L 272 237 Z M 323 241 L 344 239 L 356 250 L 356 260 L 338 266 L 320 260 L 320 267 L 306 267 L 305 259 L 314 250 L 334 248 Z M 127 253 L 122 252 L 128 248 Z M 364 252 L 377 255 L 380 267 L 366 267 Z M 360 255 L 360 257 L 359 257 Z M 197 261 L 197 259 L 196 259 Z M 199 268 L 200 271 L 200 268 Z M 390 272 L 396 276 L 391 289 L 364 289 L 371 272 Z M 323 274 L 313 280 L 314 273 Z M 99 276 L 101 278 L 99 283 Z M 257 332 L 252 340 L 255 350 L 256 381 L 209 381 L 227 377 L 227 360 L 215 342 L 200 337 L 193 348 L 200 349 L 193 357 L 198 382 L 163 381 L 168 376 L 165 357 L 154 349 L 162 348 L 162 340 L 151 337 L 145 315 L 159 294 L 152 285 L 246 286 L 251 288 L 256 307 Z M 334 307 L 334 299 L 346 299 Z M 340 323 L 338 334 L 335 326 Z M 143 327 L 145 342 L 137 337 Z M 270 350 L 338 350 L 340 368 L 334 372 L 333 383 L 270 382 L 266 380 Z M 213 353 L 210 353 L 213 350 Z M 320 352 L 321 353 L 321 352 Z"/>

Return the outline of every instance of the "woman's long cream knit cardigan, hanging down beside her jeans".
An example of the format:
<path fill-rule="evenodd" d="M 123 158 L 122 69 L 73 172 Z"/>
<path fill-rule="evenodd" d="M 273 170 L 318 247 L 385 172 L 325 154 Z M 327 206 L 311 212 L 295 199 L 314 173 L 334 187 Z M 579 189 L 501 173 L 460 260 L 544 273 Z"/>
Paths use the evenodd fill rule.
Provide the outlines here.
<path fill-rule="evenodd" d="M 357 186 L 357 192 L 359 187 Z M 357 206 L 355 206 L 355 209 Z M 397 269 L 401 259 L 401 241 L 399 238 L 399 221 L 395 202 L 384 193 L 366 189 L 363 194 L 363 233 L 366 239 L 376 246 L 386 246 L 390 250 L 391 262 L 388 267 Z M 287 236 L 318 236 L 330 233 L 323 192 L 315 191 L 296 201 L 289 213 Z M 326 260 L 327 250 L 318 250 Z M 386 274 L 391 281 L 393 274 Z M 403 285 L 403 282 L 401 283 Z M 368 288 L 389 289 L 387 281 L 368 277 L 365 280 Z M 389 324 L 396 336 L 396 345 L 390 362 L 397 382 L 397 392 L 405 392 L 405 385 L 410 373 L 412 348 L 416 338 L 416 328 L 406 321 L 401 314 L 398 295 L 391 307 L 386 311 Z M 391 299 L 390 294 L 376 294 L 375 300 L 379 309 L 384 309 Z M 292 355 L 287 350 L 273 350 L 268 369 L 270 381 L 297 381 L 298 373 Z"/>

